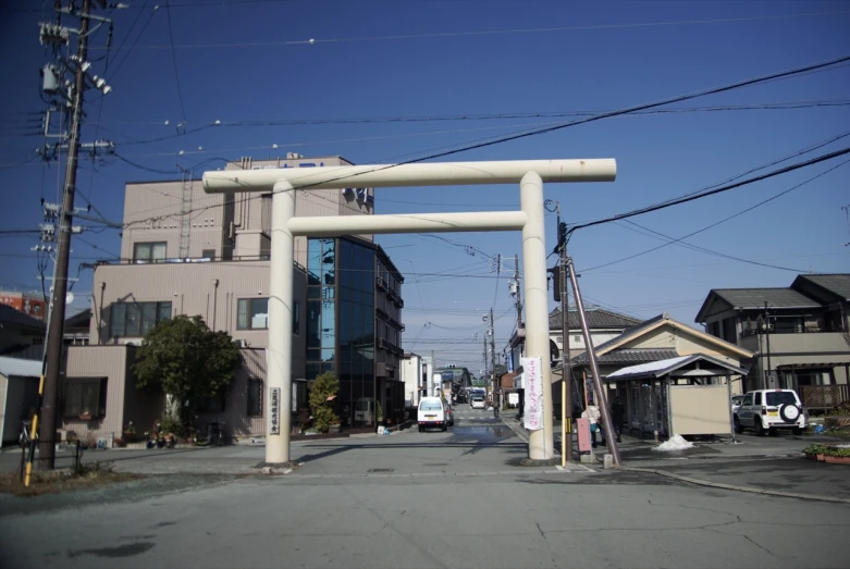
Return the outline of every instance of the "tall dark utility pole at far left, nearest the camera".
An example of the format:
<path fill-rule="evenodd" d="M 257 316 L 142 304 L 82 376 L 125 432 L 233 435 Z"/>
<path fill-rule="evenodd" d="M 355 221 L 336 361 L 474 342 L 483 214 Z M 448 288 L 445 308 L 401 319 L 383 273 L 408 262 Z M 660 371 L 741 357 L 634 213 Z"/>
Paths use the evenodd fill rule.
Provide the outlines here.
<path fill-rule="evenodd" d="M 48 337 L 46 351 L 47 368 L 42 376 L 41 385 L 44 395 L 40 408 L 42 417 L 39 431 L 38 462 L 39 468 L 52 470 L 56 466 L 56 432 L 59 399 L 59 379 L 62 367 L 62 332 L 65 322 L 65 295 L 67 294 L 67 267 L 71 253 L 71 226 L 74 215 L 74 195 L 76 191 L 77 157 L 79 153 L 79 127 L 83 119 L 83 96 L 88 87 L 86 71 L 89 66 L 88 35 L 89 13 L 91 0 L 83 0 L 79 12 L 72 7 L 67 10 L 72 15 L 79 17 L 79 30 L 77 34 L 77 53 L 75 61 L 74 87 L 71 94 L 71 129 L 67 138 L 67 162 L 65 164 L 65 182 L 62 189 L 62 210 L 59 215 L 59 231 L 57 235 L 56 277 L 50 300 L 50 321 L 48 323 Z M 44 36 L 44 32 L 42 32 Z M 72 58 L 73 59 L 73 58 Z M 100 79 L 93 82 L 101 90 L 106 82 Z M 104 90 L 104 94 L 108 92 Z M 32 469 L 32 465 L 27 466 Z"/>

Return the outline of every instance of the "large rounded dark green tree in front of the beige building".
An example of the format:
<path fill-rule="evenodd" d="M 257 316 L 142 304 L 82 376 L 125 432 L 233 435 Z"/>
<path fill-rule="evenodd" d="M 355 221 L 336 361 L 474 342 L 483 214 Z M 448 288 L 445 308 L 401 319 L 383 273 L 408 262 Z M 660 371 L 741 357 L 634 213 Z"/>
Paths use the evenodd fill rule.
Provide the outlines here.
<path fill-rule="evenodd" d="M 200 401 L 226 391 L 241 362 L 230 334 L 211 331 L 200 317 L 178 316 L 145 335 L 133 371 L 137 387 L 169 396 L 170 415 L 185 425 Z"/>

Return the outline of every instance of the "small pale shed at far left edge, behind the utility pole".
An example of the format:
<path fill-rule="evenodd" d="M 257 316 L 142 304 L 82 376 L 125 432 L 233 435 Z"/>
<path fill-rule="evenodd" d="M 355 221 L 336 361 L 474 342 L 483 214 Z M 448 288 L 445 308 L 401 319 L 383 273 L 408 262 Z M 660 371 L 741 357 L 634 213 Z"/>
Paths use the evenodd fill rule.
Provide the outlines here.
<path fill-rule="evenodd" d="M 15 444 L 21 421 L 38 405 L 41 360 L 0 357 L 0 444 Z"/>

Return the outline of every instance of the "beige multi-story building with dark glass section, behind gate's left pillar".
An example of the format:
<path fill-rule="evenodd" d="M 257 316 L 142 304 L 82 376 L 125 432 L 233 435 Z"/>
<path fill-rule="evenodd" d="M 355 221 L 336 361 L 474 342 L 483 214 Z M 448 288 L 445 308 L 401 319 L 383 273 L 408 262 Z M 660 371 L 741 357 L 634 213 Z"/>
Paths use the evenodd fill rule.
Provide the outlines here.
<path fill-rule="evenodd" d="M 340 157 L 291 156 L 226 168 L 345 164 Z M 190 178 L 126 185 L 122 261 L 95 269 L 89 345 L 71 346 L 67 355 L 63 429 L 79 437 L 118 435 L 130 421 L 148 429 L 163 398 L 136 389 L 136 346 L 161 320 L 186 314 L 227 332 L 244 357 L 230 391 L 205 401 L 200 420 L 223 420 L 234 435 L 264 433 L 270 198 L 206 194 Z M 308 190 L 298 194 L 295 214 L 368 215 L 373 203 L 371 188 Z M 307 406 L 307 382 L 333 371 L 338 411 L 350 426 L 366 426 L 353 411 L 360 399 L 383 404 L 391 417 L 403 407 L 396 374 L 402 275 L 369 235 L 296 237 L 294 248 L 293 411 Z"/>

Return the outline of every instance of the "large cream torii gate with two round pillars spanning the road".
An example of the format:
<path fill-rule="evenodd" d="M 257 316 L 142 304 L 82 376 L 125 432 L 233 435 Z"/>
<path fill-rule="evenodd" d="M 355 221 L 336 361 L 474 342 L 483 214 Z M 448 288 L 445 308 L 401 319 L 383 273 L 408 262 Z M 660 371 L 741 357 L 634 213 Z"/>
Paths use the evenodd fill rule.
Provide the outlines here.
<path fill-rule="evenodd" d="M 549 358 L 549 302 L 543 182 L 613 182 L 614 159 L 513 160 L 375 164 L 311 169 L 226 170 L 205 172 L 208 193 L 272 191 L 271 283 L 269 287 L 269 347 L 266 370 L 267 404 L 276 395 L 279 415 L 266 418 L 266 462 L 290 461 L 292 410 L 292 293 L 293 237 L 337 237 L 385 233 L 522 232 L 522 271 L 526 297 L 526 354 L 540 358 L 545 394 L 552 393 Z M 416 213 L 296 218 L 297 191 L 352 187 L 455 186 L 519 184 L 519 211 Z M 275 391 L 280 389 L 280 391 Z M 270 409 L 271 405 L 267 405 Z M 543 397 L 543 429 L 529 436 L 528 455 L 554 458 L 552 397 Z"/>

